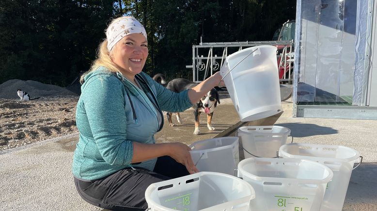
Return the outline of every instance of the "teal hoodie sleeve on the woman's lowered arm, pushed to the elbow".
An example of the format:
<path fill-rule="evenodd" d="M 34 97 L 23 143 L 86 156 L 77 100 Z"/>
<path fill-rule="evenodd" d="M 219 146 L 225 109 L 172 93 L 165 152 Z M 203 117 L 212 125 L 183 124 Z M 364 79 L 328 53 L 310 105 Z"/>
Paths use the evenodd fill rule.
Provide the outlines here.
<path fill-rule="evenodd" d="M 88 79 L 80 98 L 85 108 L 78 127 L 92 135 L 106 163 L 126 166 L 131 162 L 133 146 L 127 140 L 124 86 L 112 75 L 95 75 Z M 85 121 L 85 119 L 87 121 Z"/>

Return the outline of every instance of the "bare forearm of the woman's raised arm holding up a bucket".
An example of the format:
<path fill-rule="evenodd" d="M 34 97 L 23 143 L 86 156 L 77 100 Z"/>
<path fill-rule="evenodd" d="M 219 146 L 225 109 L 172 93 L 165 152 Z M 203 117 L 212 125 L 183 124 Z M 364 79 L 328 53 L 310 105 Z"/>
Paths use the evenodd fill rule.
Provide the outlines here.
<path fill-rule="evenodd" d="M 221 80 L 220 72 L 216 72 L 211 77 L 202 81 L 196 87 L 188 90 L 188 98 L 191 103 L 198 102 L 209 90 L 216 86 L 224 86 L 224 82 Z"/>

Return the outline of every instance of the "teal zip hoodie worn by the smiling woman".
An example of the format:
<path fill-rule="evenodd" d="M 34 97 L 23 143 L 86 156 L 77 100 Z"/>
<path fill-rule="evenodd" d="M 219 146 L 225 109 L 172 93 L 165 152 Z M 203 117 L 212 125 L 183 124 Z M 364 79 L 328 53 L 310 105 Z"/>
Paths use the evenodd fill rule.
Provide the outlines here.
<path fill-rule="evenodd" d="M 192 106 L 188 90 L 175 93 L 145 73 L 135 77 L 143 91 L 103 67 L 85 76 L 76 109 L 80 133 L 72 164 L 76 178 L 93 181 L 130 167 L 133 141 L 155 143 L 154 134 L 163 126 L 161 110 L 181 112 Z M 162 116 L 160 125 L 157 112 Z M 153 170 L 156 160 L 132 166 Z"/>

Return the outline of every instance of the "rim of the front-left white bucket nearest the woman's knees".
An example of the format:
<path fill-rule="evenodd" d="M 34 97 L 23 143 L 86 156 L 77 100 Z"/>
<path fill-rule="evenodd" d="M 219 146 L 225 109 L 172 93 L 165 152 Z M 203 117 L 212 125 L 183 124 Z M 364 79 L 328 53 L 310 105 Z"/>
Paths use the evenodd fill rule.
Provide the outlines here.
<path fill-rule="evenodd" d="M 150 184 L 147 187 L 147 189 L 145 190 L 145 193 L 144 193 L 144 197 L 145 197 L 145 200 L 146 200 L 146 202 L 148 204 L 148 207 L 151 207 L 150 204 L 152 204 L 153 207 L 155 207 L 157 209 L 161 209 L 161 210 L 165 210 L 165 211 L 176 211 L 176 210 L 164 207 L 164 206 L 162 206 L 160 204 L 157 204 L 154 200 L 152 200 L 151 194 L 154 191 L 157 190 L 157 186 L 168 185 L 168 184 L 171 184 L 174 181 L 175 182 L 177 182 L 177 181 L 186 181 L 186 180 L 194 179 L 194 178 L 197 178 L 197 177 L 202 177 L 202 176 L 205 176 L 205 175 L 222 176 L 222 177 L 231 178 L 233 180 L 241 182 L 242 183 L 242 187 L 246 186 L 247 189 L 250 191 L 250 197 L 249 196 L 244 196 L 244 197 L 238 198 L 238 200 L 244 199 L 245 200 L 244 202 L 250 202 L 252 199 L 255 198 L 255 190 L 254 190 L 254 188 L 252 187 L 252 185 L 249 182 L 244 181 L 244 180 L 242 180 L 242 179 L 240 179 L 238 177 L 235 177 L 235 176 L 232 176 L 232 175 L 229 175 L 229 174 L 224 174 L 224 173 L 219 173 L 219 172 L 202 171 L 202 172 L 198 172 L 198 173 L 195 173 L 195 174 L 190 174 L 190 175 L 183 176 L 183 177 L 178 177 L 178 178 L 171 179 L 171 180 L 166 180 L 166 181 L 159 181 L 159 182 L 155 182 L 155 183 Z M 228 202 L 224 202 L 224 203 L 221 203 L 221 204 L 225 204 L 225 203 L 228 203 Z M 221 204 L 218 204 L 218 205 L 221 205 Z M 218 206 L 218 205 L 215 205 L 215 206 Z M 207 209 L 207 208 L 205 208 L 205 209 Z"/>

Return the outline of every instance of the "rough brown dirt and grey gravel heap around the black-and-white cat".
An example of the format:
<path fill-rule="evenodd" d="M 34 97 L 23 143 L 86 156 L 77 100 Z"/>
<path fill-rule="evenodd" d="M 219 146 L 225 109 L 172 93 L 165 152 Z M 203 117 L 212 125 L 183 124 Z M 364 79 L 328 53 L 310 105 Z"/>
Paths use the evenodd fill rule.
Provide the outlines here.
<path fill-rule="evenodd" d="M 31 101 L 20 101 L 17 89 Z M 78 132 L 79 95 L 63 87 L 12 79 L 0 84 L 0 151 Z"/>

